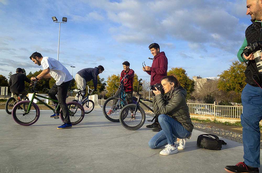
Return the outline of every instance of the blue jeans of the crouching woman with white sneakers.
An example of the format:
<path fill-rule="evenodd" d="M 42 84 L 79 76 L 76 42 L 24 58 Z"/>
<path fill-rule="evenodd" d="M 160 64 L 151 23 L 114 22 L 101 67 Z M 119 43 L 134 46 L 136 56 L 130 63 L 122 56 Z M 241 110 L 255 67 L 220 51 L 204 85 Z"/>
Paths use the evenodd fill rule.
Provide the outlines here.
<path fill-rule="evenodd" d="M 162 130 L 148 142 L 149 147 L 152 149 L 162 148 L 167 144 L 174 145 L 177 138 L 184 139 L 190 135 L 190 132 L 181 123 L 170 116 L 161 114 L 158 117 L 158 121 Z"/>

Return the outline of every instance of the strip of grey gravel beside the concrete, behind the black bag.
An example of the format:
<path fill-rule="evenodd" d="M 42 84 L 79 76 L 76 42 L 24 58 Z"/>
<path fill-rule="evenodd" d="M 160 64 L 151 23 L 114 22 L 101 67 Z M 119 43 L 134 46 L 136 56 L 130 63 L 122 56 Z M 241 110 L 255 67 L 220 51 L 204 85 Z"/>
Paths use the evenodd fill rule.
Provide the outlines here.
<path fill-rule="evenodd" d="M 206 132 L 206 133 L 209 133 L 209 134 L 214 134 L 214 135 L 217 135 L 219 137 L 229 139 L 229 140 L 232 140 L 232 141 L 236 141 L 236 142 L 243 144 L 242 134 L 232 132 L 232 131 L 228 131 L 228 130 L 225 130 L 225 129 L 220 129 L 220 128 L 217 128 L 217 127 L 212 127 L 212 126 L 209 126 L 209 125 L 206 125 L 206 124 L 196 123 L 196 122 L 193 122 L 193 125 L 194 125 L 195 130 L 199 130 L 199 131 Z M 262 149 L 262 140 L 260 140 L 260 149 Z"/>

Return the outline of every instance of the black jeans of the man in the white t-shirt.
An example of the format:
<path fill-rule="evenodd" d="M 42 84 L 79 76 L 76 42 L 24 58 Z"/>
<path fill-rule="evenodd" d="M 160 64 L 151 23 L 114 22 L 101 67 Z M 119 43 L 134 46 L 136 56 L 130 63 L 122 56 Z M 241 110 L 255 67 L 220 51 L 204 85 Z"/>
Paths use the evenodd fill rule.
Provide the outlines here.
<path fill-rule="evenodd" d="M 57 107 L 57 110 L 60 111 L 60 107 L 62 109 L 64 117 L 64 123 L 71 123 L 70 117 L 69 117 L 69 109 L 66 104 L 66 98 L 67 98 L 67 91 L 70 86 L 72 80 L 63 82 L 61 85 L 56 85 L 56 83 L 53 85 L 53 87 L 48 92 L 48 96 L 51 99 L 58 100 L 59 106 Z M 58 95 L 58 99 L 56 97 L 56 94 Z"/>

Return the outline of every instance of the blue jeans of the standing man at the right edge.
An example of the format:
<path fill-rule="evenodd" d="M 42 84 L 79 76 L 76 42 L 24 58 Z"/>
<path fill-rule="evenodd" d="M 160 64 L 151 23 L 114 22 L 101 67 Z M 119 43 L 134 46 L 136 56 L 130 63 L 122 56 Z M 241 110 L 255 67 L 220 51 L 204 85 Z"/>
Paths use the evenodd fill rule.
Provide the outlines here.
<path fill-rule="evenodd" d="M 262 89 L 247 84 L 242 91 L 244 162 L 248 166 L 260 167 L 260 130 L 262 119 Z"/>

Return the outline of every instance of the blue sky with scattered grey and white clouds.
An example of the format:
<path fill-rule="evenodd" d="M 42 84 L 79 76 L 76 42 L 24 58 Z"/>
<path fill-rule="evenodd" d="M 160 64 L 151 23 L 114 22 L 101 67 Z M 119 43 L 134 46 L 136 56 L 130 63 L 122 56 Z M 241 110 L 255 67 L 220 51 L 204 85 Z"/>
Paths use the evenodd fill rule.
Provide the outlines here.
<path fill-rule="evenodd" d="M 29 59 L 37 51 L 57 59 L 72 73 L 103 65 L 100 77 L 120 74 L 122 62 L 139 78 L 149 79 L 148 49 L 158 43 L 168 58 L 168 70 L 182 67 L 188 76 L 217 76 L 237 59 L 250 25 L 246 1 L 215 0 L 0 0 L 0 74 L 18 67 L 41 69 Z"/>

